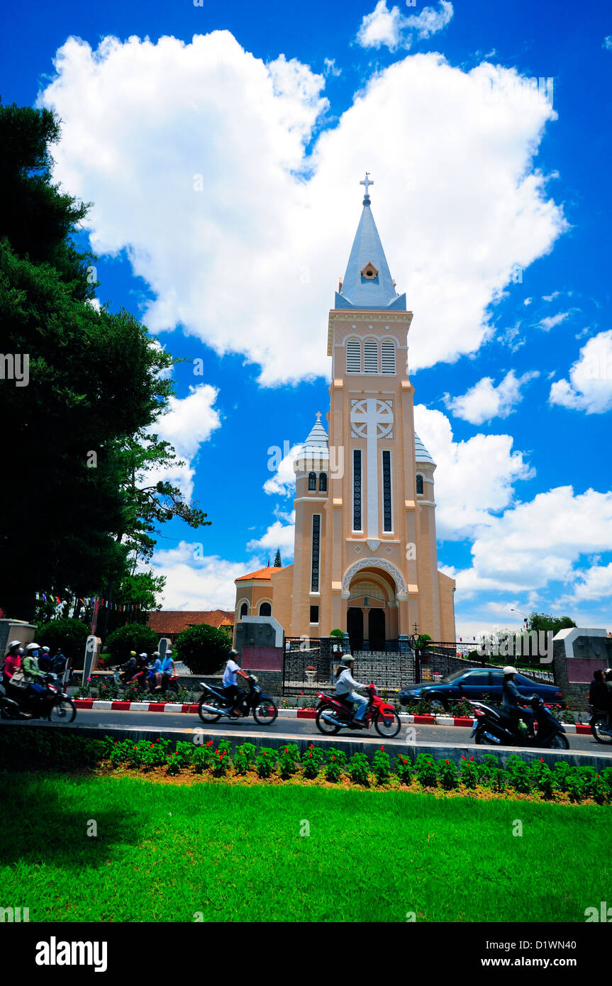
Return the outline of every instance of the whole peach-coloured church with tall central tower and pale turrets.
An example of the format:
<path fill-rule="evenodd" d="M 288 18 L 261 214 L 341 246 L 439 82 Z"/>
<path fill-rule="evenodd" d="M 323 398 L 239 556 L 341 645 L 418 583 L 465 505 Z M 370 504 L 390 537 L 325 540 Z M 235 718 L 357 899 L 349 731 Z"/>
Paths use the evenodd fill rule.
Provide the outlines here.
<path fill-rule="evenodd" d="M 363 212 L 329 313 L 327 429 L 316 420 L 296 458 L 293 565 L 236 580 L 236 622 L 278 620 L 286 637 L 348 632 L 371 651 L 415 629 L 454 641 L 454 580 L 438 570 L 436 463 L 414 430 L 408 378 L 412 312 L 395 290 Z"/>

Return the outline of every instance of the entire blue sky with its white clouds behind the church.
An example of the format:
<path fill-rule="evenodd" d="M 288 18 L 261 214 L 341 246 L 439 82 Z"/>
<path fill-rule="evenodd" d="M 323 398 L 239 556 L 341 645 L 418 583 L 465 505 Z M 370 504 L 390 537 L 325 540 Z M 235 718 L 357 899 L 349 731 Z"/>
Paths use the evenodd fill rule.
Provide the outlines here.
<path fill-rule="evenodd" d="M 368 169 L 458 634 L 511 606 L 610 628 L 608 5 L 34 2 L 0 44 L 3 101 L 64 122 L 100 301 L 201 361 L 159 430 L 213 526 L 163 530 L 166 607 L 233 605 L 291 560 L 276 466 L 328 407 Z"/>

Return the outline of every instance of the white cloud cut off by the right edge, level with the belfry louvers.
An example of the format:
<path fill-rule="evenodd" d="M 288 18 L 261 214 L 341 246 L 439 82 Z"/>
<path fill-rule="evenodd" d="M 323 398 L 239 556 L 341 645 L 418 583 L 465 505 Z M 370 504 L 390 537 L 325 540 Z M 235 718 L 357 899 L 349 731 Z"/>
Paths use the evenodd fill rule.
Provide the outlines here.
<path fill-rule="evenodd" d="M 559 380 L 550 388 L 551 404 L 604 414 L 612 409 L 612 330 L 593 335 L 580 349 L 570 369 L 570 380 Z"/>

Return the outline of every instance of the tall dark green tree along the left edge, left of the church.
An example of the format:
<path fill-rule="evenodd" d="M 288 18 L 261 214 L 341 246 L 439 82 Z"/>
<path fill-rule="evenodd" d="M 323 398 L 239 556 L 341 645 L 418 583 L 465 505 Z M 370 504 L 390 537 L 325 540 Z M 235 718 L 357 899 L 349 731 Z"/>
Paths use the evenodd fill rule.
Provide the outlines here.
<path fill-rule="evenodd" d="M 0 607 L 22 619 L 34 615 L 36 591 L 112 599 L 152 553 L 159 524 L 205 523 L 170 483 L 147 480 L 149 468 L 175 461 L 153 434 L 174 361 L 129 313 L 89 304 L 96 257 L 73 243 L 88 207 L 51 181 L 58 137 L 48 110 L 0 104 L 0 330 L 21 366 L 21 381 L 0 383 L 11 450 Z"/>

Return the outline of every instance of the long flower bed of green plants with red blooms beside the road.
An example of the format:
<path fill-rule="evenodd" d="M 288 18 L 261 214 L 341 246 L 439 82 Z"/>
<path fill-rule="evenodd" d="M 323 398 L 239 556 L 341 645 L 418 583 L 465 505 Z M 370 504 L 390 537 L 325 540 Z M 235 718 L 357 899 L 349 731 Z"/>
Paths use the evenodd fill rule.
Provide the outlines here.
<path fill-rule="evenodd" d="M 0 733 L 0 761 L 12 770 L 57 768 L 63 771 L 144 771 L 156 776 L 226 778 L 249 783 L 327 783 L 347 786 L 438 791 L 441 795 L 470 794 L 491 798 L 523 797 L 561 803 L 612 803 L 612 766 L 597 772 L 590 766 L 572 766 L 566 760 L 551 769 L 543 759 L 530 763 L 513 754 L 508 766 L 500 766 L 495 755 L 482 763 L 462 757 L 459 764 L 447 758 L 436 760 L 420 753 L 414 763 L 404 753 L 391 760 L 384 746 L 372 760 L 363 752 L 350 759 L 344 750 L 310 743 L 301 753 L 296 743 L 278 749 L 244 742 L 232 751 L 227 741 L 199 744 L 179 740 L 90 740 L 78 736 L 36 730 Z"/>

